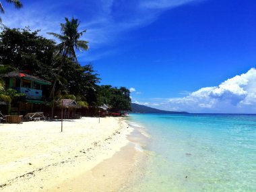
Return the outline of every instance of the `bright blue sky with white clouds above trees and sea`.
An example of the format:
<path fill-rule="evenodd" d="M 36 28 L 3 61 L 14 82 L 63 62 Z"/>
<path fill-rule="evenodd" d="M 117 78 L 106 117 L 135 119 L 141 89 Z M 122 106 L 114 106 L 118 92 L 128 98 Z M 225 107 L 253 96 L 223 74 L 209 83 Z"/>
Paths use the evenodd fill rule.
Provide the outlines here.
<path fill-rule="evenodd" d="M 4 2 L 3 2 L 4 3 Z M 59 32 L 81 21 L 102 84 L 131 88 L 133 102 L 191 113 L 256 113 L 255 0 L 22 1 L 3 23 Z M 238 76 L 236 76 L 238 75 Z M 238 80 L 237 80 L 238 79 Z"/>

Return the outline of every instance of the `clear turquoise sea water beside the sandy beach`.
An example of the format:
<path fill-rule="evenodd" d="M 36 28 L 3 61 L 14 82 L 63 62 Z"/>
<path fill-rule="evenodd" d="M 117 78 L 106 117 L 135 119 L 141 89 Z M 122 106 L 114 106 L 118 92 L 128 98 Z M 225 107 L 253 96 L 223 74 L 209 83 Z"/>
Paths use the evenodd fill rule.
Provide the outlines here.
<path fill-rule="evenodd" d="M 123 191 L 256 191 L 256 115 L 130 115 L 151 136 Z"/>

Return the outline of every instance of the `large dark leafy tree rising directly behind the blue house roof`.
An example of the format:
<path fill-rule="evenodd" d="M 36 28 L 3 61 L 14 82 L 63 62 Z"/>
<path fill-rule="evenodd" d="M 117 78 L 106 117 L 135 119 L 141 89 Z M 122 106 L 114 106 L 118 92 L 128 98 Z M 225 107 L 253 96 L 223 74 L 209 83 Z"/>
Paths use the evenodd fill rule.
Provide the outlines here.
<path fill-rule="evenodd" d="M 51 81 L 55 42 L 29 28 L 4 28 L 0 33 L 0 63 Z"/>

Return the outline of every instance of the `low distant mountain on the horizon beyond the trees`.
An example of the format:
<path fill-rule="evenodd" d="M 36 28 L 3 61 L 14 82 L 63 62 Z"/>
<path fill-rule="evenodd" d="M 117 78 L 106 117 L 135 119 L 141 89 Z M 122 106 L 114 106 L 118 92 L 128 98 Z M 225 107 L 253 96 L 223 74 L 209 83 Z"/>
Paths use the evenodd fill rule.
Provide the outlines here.
<path fill-rule="evenodd" d="M 131 103 L 131 112 L 132 113 L 164 113 L 164 114 L 183 114 L 183 113 L 187 113 L 185 111 L 183 112 L 177 112 L 177 111 L 168 111 L 168 110 L 160 110 L 157 108 L 152 108 L 149 106 L 144 106 L 141 104 L 135 104 L 135 103 Z"/>

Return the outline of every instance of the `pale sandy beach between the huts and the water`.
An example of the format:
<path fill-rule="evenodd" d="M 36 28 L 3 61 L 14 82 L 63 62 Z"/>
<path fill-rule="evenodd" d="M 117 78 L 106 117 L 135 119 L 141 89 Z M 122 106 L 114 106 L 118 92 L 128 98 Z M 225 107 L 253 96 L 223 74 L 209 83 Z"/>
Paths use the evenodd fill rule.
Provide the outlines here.
<path fill-rule="evenodd" d="M 123 118 L 0 124 L 0 191 L 117 191 L 141 152 Z M 121 150 L 122 149 L 122 150 Z"/>

